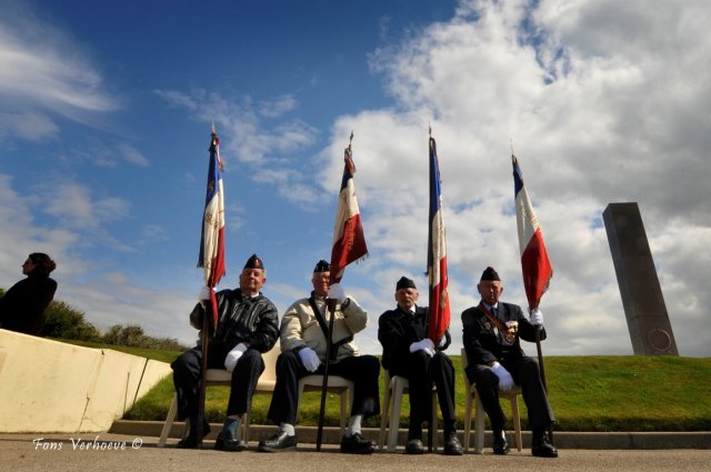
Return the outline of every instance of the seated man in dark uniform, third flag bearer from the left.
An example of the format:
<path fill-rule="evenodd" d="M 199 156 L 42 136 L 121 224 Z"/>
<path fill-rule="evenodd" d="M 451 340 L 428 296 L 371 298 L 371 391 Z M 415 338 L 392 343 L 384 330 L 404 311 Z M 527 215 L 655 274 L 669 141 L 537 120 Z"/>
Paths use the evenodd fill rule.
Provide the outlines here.
<path fill-rule="evenodd" d="M 422 422 L 432 416 L 430 395 L 434 383 L 444 421 L 444 454 L 461 455 L 454 418 L 454 368 L 442 352 L 449 345 L 449 331 L 444 345 L 435 348 L 427 338 L 429 309 L 415 304 L 418 297 L 414 282 L 401 278 L 395 285 L 398 307 L 381 314 L 378 322 L 383 368 L 391 375 L 404 376 L 410 382 L 410 429 L 405 453 L 424 453 Z"/>

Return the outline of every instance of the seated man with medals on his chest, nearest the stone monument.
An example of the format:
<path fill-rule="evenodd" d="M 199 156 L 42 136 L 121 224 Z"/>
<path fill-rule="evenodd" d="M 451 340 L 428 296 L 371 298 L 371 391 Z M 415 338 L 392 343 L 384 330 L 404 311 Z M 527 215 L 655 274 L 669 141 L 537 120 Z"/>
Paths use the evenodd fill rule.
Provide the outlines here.
<path fill-rule="evenodd" d="M 521 307 L 500 302 L 503 292 L 501 279 L 493 268 L 487 268 L 477 284 L 481 302 L 462 313 L 463 343 L 469 358 L 467 376 L 477 386 L 494 434 L 493 452 L 505 454 L 509 443 L 504 432 L 505 416 L 499 404 L 499 389 L 507 391 L 521 385 L 532 430 L 531 453 L 541 458 L 557 458 L 548 430 L 555 421 L 548 395 L 541 382 L 538 363 L 527 356 L 520 340 L 534 342 L 540 327 L 540 339 L 545 339 L 543 314 L 531 310 L 530 321 Z"/>

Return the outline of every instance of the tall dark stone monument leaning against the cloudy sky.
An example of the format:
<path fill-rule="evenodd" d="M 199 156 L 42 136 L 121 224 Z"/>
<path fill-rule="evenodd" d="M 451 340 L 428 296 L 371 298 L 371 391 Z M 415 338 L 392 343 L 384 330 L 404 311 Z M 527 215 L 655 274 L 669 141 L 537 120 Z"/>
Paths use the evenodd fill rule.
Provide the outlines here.
<path fill-rule="evenodd" d="M 635 355 L 679 355 L 637 203 L 602 212 Z"/>

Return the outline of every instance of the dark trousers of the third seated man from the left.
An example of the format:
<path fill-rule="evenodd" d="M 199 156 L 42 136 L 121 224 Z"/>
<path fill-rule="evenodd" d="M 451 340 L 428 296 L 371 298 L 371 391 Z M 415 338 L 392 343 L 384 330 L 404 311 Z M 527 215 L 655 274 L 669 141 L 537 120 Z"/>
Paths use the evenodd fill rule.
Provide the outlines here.
<path fill-rule="evenodd" d="M 412 438 L 421 438 L 422 423 L 432 418 L 432 384 L 444 422 L 444 434 L 457 431 L 454 415 L 454 366 L 443 352 L 430 358 L 423 351 L 408 356 L 407 363 L 398 363 L 390 369 L 391 375 L 401 375 L 410 383 L 410 432 Z"/>

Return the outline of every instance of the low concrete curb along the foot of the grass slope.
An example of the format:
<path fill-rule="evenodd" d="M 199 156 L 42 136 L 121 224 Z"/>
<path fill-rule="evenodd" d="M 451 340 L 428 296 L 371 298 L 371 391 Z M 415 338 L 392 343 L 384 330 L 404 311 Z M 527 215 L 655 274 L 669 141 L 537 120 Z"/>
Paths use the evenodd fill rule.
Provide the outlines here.
<path fill-rule="evenodd" d="M 214 440 L 217 433 L 222 425 L 212 423 L 212 432 L 206 438 L 208 441 Z M 154 436 L 158 442 L 162 421 L 114 421 L 108 431 L 112 434 L 124 434 L 132 436 Z M 170 432 L 170 441 L 168 444 L 174 444 L 182 432 L 183 423 L 176 422 Z M 273 425 L 252 424 L 249 428 L 250 443 L 260 441 L 272 435 L 276 432 Z M 363 429 L 363 435 L 373 441 L 378 441 L 380 430 L 377 428 Z M 297 435 L 300 443 L 316 444 L 317 428 L 316 426 L 297 426 Z M 403 449 L 407 430 L 400 430 L 398 445 Z M 459 436 L 462 440 L 463 433 L 460 431 Z M 513 434 L 510 434 L 513 440 Z M 339 428 L 323 429 L 323 444 L 339 444 L 341 433 Z M 484 446 L 491 446 L 491 432 L 487 431 L 484 436 Z M 523 449 L 530 449 L 530 432 L 522 433 Z M 567 432 L 553 431 L 553 442 L 558 449 L 589 449 L 589 450 L 657 450 L 657 449 L 711 449 L 711 431 L 691 431 L 691 432 Z M 439 444 L 442 443 L 441 432 Z M 463 444 L 463 441 L 462 441 Z M 473 444 L 473 436 L 471 443 Z M 512 444 L 513 446 L 513 444 Z"/>

